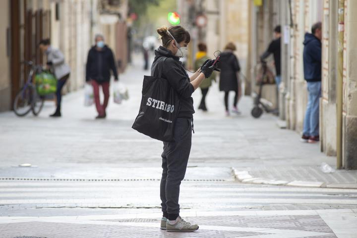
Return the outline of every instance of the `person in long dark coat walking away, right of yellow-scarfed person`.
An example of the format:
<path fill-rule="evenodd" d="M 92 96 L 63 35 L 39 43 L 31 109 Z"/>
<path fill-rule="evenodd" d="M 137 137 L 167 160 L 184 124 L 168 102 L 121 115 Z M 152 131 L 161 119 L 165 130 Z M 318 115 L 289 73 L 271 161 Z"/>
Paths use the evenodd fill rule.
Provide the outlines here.
<path fill-rule="evenodd" d="M 220 73 L 220 91 L 225 92 L 225 106 L 226 106 L 226 115 L 230 115 L 230 111 L 228 108 L 228 95 L 230 91 L 236 93 L 233 102 L 233 109 L 234 113 L 239 114 L 240 111 L 238 110 L 238 92 L 239 92 L 239 78 L 238 73 L 240 71 L 240 66 L 238 62 L 238 58 L 233 53 L 236 50 L 236 46 L 233 43 L 228 43 L 225 50 L 221 53 L 219 66 L 221 69 Z"/>

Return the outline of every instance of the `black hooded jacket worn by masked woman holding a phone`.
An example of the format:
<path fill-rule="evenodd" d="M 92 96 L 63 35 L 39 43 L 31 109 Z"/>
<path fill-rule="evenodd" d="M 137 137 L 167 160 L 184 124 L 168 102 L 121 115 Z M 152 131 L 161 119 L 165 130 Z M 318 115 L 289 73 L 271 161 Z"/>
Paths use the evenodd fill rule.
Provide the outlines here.
<path fill-rule="evenodd" d="M 163 60 L 158 61 L 161 57 L 167 57 L 165 63 Z M 160 74 L 162 78 L 167 79 L 180 97 L 181 106 L 178 117 L 192 118 L 195 112 L 193 109 L 193 98 L 191 97 L 194 92 L 193 85 L 190 83 L 188 74 L 183 68 L 181 61 L 179 61 L 179 57 L 174 56 L 171 50 L 162 46 L 155 50 L 155 59 L 151 65 L 151 76 L 158 76 Z"/>

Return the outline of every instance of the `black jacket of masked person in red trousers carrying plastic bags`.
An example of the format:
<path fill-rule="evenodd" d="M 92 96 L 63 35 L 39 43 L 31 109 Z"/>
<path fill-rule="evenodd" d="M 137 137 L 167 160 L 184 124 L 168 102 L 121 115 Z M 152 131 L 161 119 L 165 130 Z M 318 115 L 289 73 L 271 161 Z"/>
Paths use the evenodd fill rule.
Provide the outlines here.
<path fill-rule="evenodd" d="M 108 46 L 104 46 L 102 50 L 97 50 L 96 46 L 92 47 L 88 52 L 86 81 L 93 79 L 97 82 L 109 82 L 110 70 L 113 71 L 115 79 L 118 80 L 117 67 L 112 50 Z"/>

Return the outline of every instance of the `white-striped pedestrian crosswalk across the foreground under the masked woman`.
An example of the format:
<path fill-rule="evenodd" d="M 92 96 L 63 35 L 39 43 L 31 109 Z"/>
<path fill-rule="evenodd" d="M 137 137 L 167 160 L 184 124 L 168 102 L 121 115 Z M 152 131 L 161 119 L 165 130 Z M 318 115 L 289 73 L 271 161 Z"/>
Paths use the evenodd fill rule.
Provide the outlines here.
<path fill-rule="evenodd" d="M 158 179 L 0 178 L 0 238 L 176 237 L 159 229 L 159 186 Z M 357 190 L 183 181 L 180 214 L 200 229 L 179 237 L 336 238 L 339 227 L 357 222 L 356 198 Z"/>

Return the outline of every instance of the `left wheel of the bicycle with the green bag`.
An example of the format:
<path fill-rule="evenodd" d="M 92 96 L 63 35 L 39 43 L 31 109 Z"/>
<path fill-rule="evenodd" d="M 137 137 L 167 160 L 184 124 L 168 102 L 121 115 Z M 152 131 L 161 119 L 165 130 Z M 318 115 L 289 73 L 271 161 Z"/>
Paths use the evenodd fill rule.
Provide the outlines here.
<path fill-rule="evenodd" d="M 25 116 L 30 112 L 32 108 L 32 96 L 33 88 L 28 85 L 17 93 L 14 103 L 13 110 L 17 116 Z"/>

